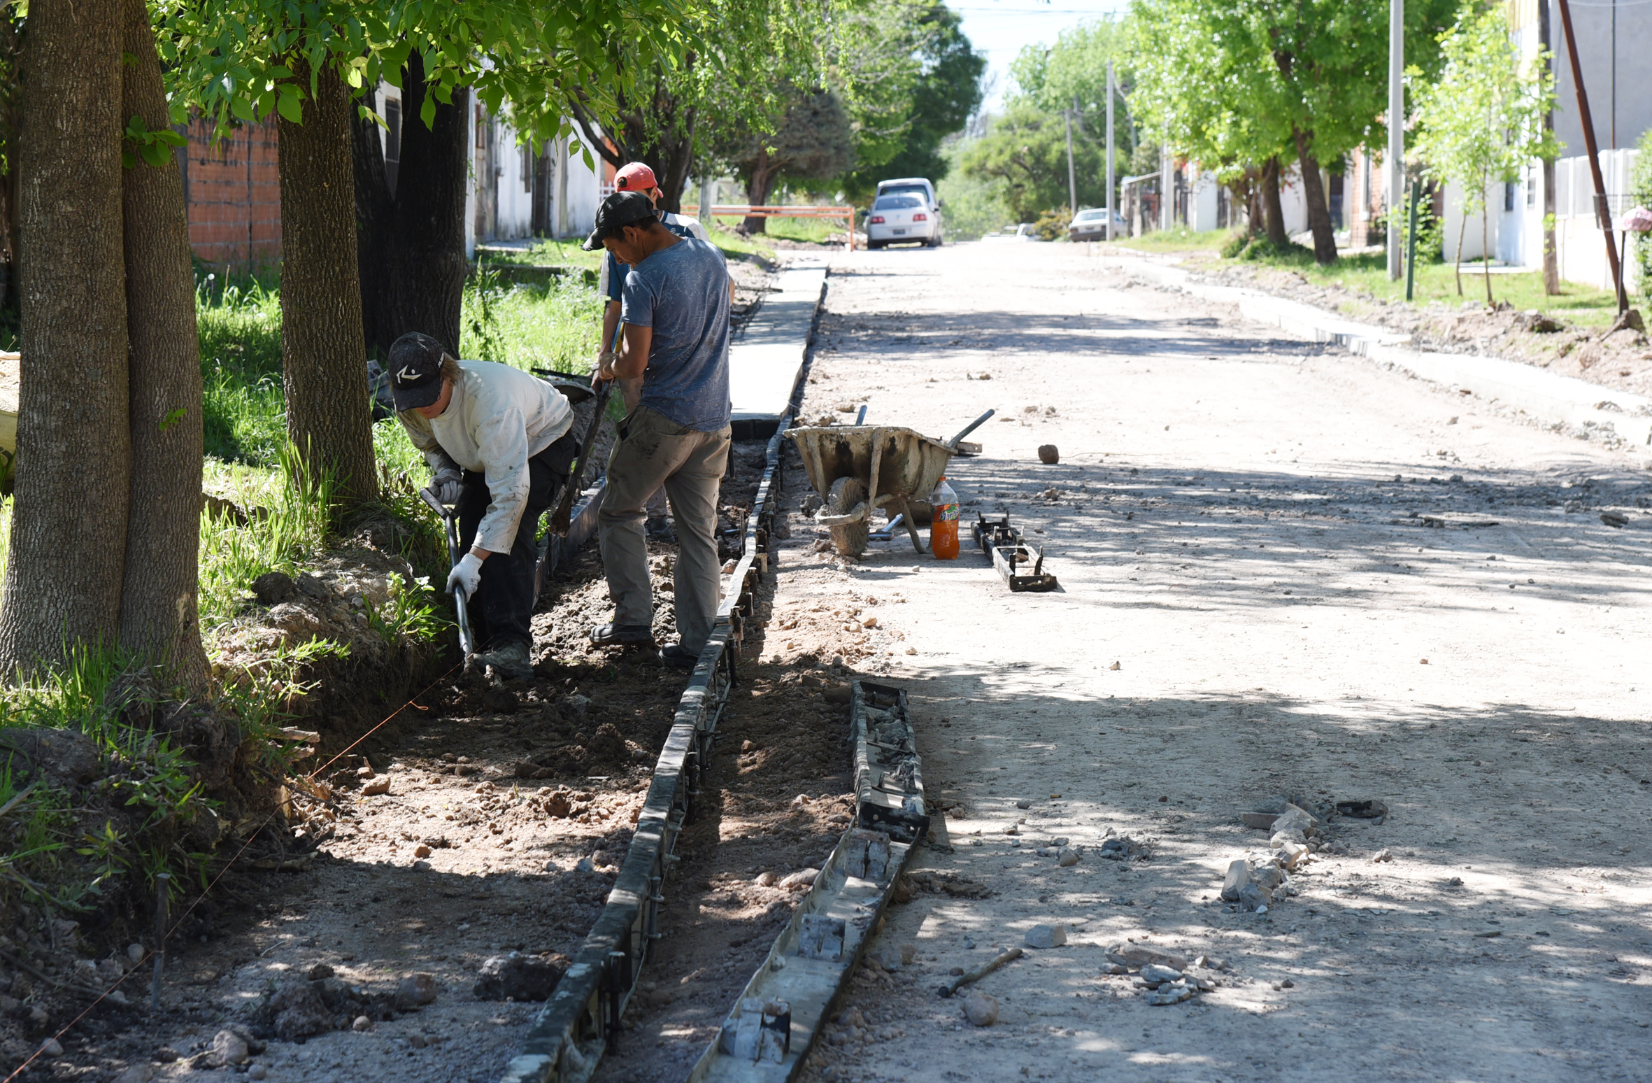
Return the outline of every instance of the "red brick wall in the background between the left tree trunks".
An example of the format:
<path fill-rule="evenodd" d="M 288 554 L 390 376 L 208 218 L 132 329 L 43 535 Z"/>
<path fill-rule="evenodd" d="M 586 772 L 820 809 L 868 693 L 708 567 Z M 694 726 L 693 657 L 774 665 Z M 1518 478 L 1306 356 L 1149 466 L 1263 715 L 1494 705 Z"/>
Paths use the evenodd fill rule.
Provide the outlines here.
<path fill-rule="evenodd" d="M 190 248 L 205 263 L 248 266 L 281 258 L 281 174 L 274 119 L 213 142 L 195 119 L 180 149 Z"/>

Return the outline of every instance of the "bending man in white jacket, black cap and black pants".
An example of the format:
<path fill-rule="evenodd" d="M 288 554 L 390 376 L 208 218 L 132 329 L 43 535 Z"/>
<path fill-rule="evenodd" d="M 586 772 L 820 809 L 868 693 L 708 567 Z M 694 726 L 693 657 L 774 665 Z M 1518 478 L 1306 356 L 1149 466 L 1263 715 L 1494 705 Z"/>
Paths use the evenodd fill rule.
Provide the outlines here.
<path fill-rule="evenodd" d="M 534 532 L 578 450 L 568 400 L 520 369 L 454 360 L 418 332 L 390 346 L 390 389 L 438 496 L 459 513 L 459 546 L 469 552 L 448 574 L 448 594 L 459 585 L 476 602 L 476 658 L 509 680 L 529 680 Z"/>

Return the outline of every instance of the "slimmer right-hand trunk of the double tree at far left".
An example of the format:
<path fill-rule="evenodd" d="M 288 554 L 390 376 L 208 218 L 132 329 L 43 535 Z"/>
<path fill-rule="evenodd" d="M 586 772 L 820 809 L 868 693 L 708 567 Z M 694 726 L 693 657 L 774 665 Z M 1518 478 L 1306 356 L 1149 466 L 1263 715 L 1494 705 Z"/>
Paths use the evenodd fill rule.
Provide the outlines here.
<path fill-rule="evenodd" d="M 144 0 L 124 0 L 121 116 L 165 131 L 167 94 Z M 121 645 L 203 691 L 197 623 L 202 506 L 202 362 L 183 179 L 172 154 L 122 170 L 132 514 L 126 536 Z"/>

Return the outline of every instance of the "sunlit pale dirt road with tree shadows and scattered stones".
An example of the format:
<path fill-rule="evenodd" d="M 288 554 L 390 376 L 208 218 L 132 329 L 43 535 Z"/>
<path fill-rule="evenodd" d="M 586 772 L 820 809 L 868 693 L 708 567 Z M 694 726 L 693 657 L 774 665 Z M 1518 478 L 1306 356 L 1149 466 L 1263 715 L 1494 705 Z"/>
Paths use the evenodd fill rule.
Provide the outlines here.
<path fill-rule="evenodd" d="M 1645 450 L 1275 334 L 1066 245 L 836 263 L 806 413 L 996 407 L 952 484 L 1062 590 L 905 539 L 843 562 L 793 519 L 765 658 L 912 691 L 961 805 L 922 866 L 990 891 L 894 908 L 874 951 L 917 961 L 861 976 L 806 1078 L 1645 1078 Z M 1391 815 L 1333 820 L 1294 896 L 1237 913 L 1222 873 L 1269 852 L 1241 812 L 1280 794 Z M 1069 942 L 980 982 L 996 1025 L 930 992 L 1037 923 Z M 1231 969 L 1150 1007 L 1107 974 L 1132 939 Z"/>

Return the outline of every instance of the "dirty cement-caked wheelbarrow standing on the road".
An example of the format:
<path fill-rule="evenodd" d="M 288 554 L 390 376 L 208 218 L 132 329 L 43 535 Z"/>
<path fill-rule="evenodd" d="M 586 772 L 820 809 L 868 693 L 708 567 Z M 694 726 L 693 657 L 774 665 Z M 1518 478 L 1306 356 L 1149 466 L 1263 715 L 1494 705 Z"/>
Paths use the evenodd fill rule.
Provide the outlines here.
<path fill-rule="evenodd" d="M 910 501 L 930 494 L 957 455 L 957 441 L 942 443 L 894 425 L 808 425 L 786 435 L 798 445 L 809 484 L 826 501 L 814 521 L 831 529 L 838 552 L 866 552 L 872 508 L 900 514 L 912 547 L 927 552 Z"/>

